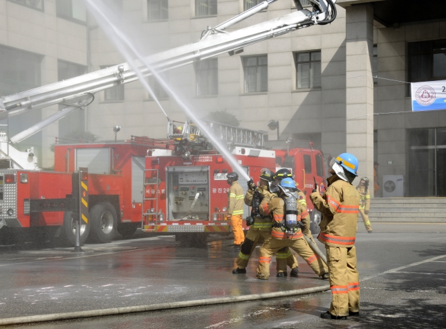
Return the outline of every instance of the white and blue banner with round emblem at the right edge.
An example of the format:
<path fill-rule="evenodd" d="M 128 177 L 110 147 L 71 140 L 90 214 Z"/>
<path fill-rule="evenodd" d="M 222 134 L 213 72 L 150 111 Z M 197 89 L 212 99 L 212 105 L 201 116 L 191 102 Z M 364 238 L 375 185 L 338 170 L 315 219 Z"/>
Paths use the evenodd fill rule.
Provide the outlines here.
<path fill-rule="evenodd" d="M 446 109 L 446 80 L 412 82 L 412 111 Z"/>

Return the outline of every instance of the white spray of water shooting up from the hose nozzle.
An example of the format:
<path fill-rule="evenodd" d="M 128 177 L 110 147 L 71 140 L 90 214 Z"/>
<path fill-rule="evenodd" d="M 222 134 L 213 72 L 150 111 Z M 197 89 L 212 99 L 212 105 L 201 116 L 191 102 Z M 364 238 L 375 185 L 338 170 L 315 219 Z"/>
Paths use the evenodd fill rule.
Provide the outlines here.
<path fill-rule="evenodd" d="M 109 37 L 109 40 L 111 40 L 111 42 L 115 44 L 115 46 L 118 48 L 118 51 L 120 51 L 122 56 L 124 56 L 124 58 L 131 66 L 131 69 L 136 72 L 138 78 L 142 82 L 143 87 L 145 87 L 145 89 L 149 91 L 149 94 L 151 94 L 151 96 L 156 99 L 154 92 L 151 90 L 149 84 L 144 78 L 144 75 L 140 71 L 140 66 L 138 66 L 135 60 L 133 60 L 133 56 L 135 56 L 140 63 L 144 64 L 144 66 L 146 66 L 146 68 L 156 77 L 158 82 L 160 82 L 162 88 L 165 89 L 165 91 L 167 91 L 167 93 L 172 98 L 174 98 L 176 103 L 180 105 L 181 109 L 183 109 L 187 116 L 189 116 L 189 118 L 191 118 L 192 121 L 201 128 L 201 131 L 205 133 L 205 136 L 207 136 L 207 138 L 212 141 L 213 145 L 226 157 L 227 161 L 230 162 L 232 168 L 239 172 L 239 174 L 242 175 L 245 179 L 249 180 L 250 177 L 248 176 L 248 174 L 245 172 L 245 170 L 243 170 L 242 166 L 237 162 L 237 160 L 233 157 L 229 150 L 225 148 L 225 145 L 222 145 L 221 141 L 217 139 L 216 136 L 212 134 L 212 132 L 210 132 L 210 130 L 207 128 L 207 125 L 205 125 L 203 121 L 201 121 L 201 119 L 196 116 L 192 109 L 190 109 L 189 105 L 187 105 L 185 101 L 180 98 L 178 93 L 174 91 L 174 89 L 172 89 L 170 85 L 167 84 L 165 79 L 158 72 L 154 71 L 154 69 L 151 68 L 151 64 L 149 64 L 145 56 L 143 56 L 136 48 L 136 42 L 134 40 L 130 40 L 127 35 L 124 35 L 124 33 L 122 33 L 122 31 L 116 26 L 116 24 L 111 21 L 110 15 L 105 14 L 105 12 L 108 11 L 108 6 L 106 6 L 106 4 L 102 0 L 84 0 L 84 2 L 89 8 L 91 14 L 97 20 L 97 23 L 101 26 L 102 30 L 104 30 L 106 35 Z M 133 53 L 133 56 L 131 55 L 131 53 Z M 158 100 L 157 104 L 160 106 Z"/>

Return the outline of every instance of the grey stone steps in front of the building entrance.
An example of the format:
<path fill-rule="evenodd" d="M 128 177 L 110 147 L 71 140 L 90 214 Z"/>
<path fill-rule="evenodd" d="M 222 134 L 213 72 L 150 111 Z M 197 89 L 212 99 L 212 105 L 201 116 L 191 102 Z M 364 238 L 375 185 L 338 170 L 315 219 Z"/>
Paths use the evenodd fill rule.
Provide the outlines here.
<path fill-rule="evenodd" d="M 371 222 L 446 223 L 446 198 L 375 197 L 371 199 L 369 219 Z"/>

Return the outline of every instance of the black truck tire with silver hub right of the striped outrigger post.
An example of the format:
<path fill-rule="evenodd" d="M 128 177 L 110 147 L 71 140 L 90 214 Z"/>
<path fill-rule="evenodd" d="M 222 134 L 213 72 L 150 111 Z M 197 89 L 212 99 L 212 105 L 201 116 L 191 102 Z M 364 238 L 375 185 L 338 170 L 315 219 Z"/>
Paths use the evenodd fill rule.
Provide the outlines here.
<path fill-rule="evenodd" d="M 90 211 L 92 242 L 106 243 L 115 237 L 118 216 L 109 202 L 96 204 Z"/>

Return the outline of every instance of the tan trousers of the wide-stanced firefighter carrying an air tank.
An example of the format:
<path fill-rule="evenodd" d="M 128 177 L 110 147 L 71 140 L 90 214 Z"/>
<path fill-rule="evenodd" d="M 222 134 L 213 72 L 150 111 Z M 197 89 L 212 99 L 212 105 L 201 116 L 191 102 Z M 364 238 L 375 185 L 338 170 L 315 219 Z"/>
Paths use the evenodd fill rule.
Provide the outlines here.
<path fill-rule="evenodd" d="M 256 278 L 267 280 L 270 277 L 271 256 L 284 247 L 296 251 L 318 276 L 322 276 L 328 272 L 326 267 L 324 267 L 324 262 L 319 256 L 315 255 L 304 238 L 281 240 L 270 237 L 260 247 L 259 266 L 257 267 Z"/>

